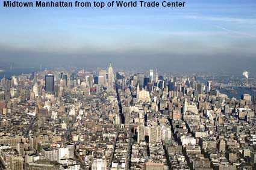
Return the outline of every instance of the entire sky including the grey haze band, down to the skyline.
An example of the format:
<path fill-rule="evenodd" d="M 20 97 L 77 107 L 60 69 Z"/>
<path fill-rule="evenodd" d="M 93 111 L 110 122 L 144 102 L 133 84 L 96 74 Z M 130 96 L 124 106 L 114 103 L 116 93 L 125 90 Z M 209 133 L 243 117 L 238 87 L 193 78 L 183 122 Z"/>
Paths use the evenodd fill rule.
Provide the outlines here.
<path fill-rule="evenodd" d="M 179 8 L 1 6 L 0 68 L 112 62 L 119 68 L 256 73 L 255 1 L 184 2 Z"/>

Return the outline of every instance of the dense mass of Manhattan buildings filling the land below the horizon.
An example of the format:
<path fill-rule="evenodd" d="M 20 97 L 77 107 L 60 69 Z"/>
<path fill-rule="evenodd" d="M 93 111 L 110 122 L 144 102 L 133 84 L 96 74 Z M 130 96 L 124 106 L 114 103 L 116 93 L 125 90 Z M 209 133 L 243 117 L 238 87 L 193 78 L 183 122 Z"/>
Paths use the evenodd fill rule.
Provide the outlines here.
<path fill-rule="evenodd" d="M 10 170 L 254 169 L 256 97 L 196 76 L 39 71 L 0 83 Z"/>

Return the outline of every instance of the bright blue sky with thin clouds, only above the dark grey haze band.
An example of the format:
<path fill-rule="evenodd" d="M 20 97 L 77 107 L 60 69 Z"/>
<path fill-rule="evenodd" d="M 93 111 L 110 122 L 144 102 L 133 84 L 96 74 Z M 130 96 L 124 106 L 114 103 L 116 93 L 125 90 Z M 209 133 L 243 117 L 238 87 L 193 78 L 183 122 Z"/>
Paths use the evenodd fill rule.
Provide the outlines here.
<path fill-rule="evenodd" d="M 186 2 L 185 7 L 46 8 L 1 4 L 0 48 L 5 55 L 8 50 L 120 55 L 139 51 L 188 58 L 217 58 L 223 53 L 256 58 L 255 0 L 181 2 Z"/>

